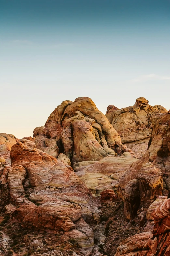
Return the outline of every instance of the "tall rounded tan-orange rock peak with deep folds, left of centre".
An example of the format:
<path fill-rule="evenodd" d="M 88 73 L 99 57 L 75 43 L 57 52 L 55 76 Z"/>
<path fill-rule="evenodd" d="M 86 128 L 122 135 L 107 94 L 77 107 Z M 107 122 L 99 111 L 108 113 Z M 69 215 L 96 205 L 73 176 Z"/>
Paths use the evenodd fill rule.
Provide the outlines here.
<path fill-rule="evenodd" d="M 45 127 L 34 129 L 33 136 L 38 149 L 54 157 L 64 153 L 72 163 L 99 161 L 110 153 L 121 155 L 126 148 L 106 116 L 87 97 L 63 101 Z"/>

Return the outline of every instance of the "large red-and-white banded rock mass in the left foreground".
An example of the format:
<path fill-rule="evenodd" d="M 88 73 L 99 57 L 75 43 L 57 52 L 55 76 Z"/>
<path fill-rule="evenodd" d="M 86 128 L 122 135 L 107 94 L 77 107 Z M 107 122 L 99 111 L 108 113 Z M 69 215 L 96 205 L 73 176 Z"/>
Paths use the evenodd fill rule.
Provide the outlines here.
<path fill-rule="evenodd" d="M 12 146 L 11 165 L 6 179 L 17 206 L 10 207 L 13 218 L 35 230 L 62 231 L 83 255 L 91 255 L 94 233 L 88 223 L 100 221 L 98 203 L 73 169 L 26 139 Z"/>

